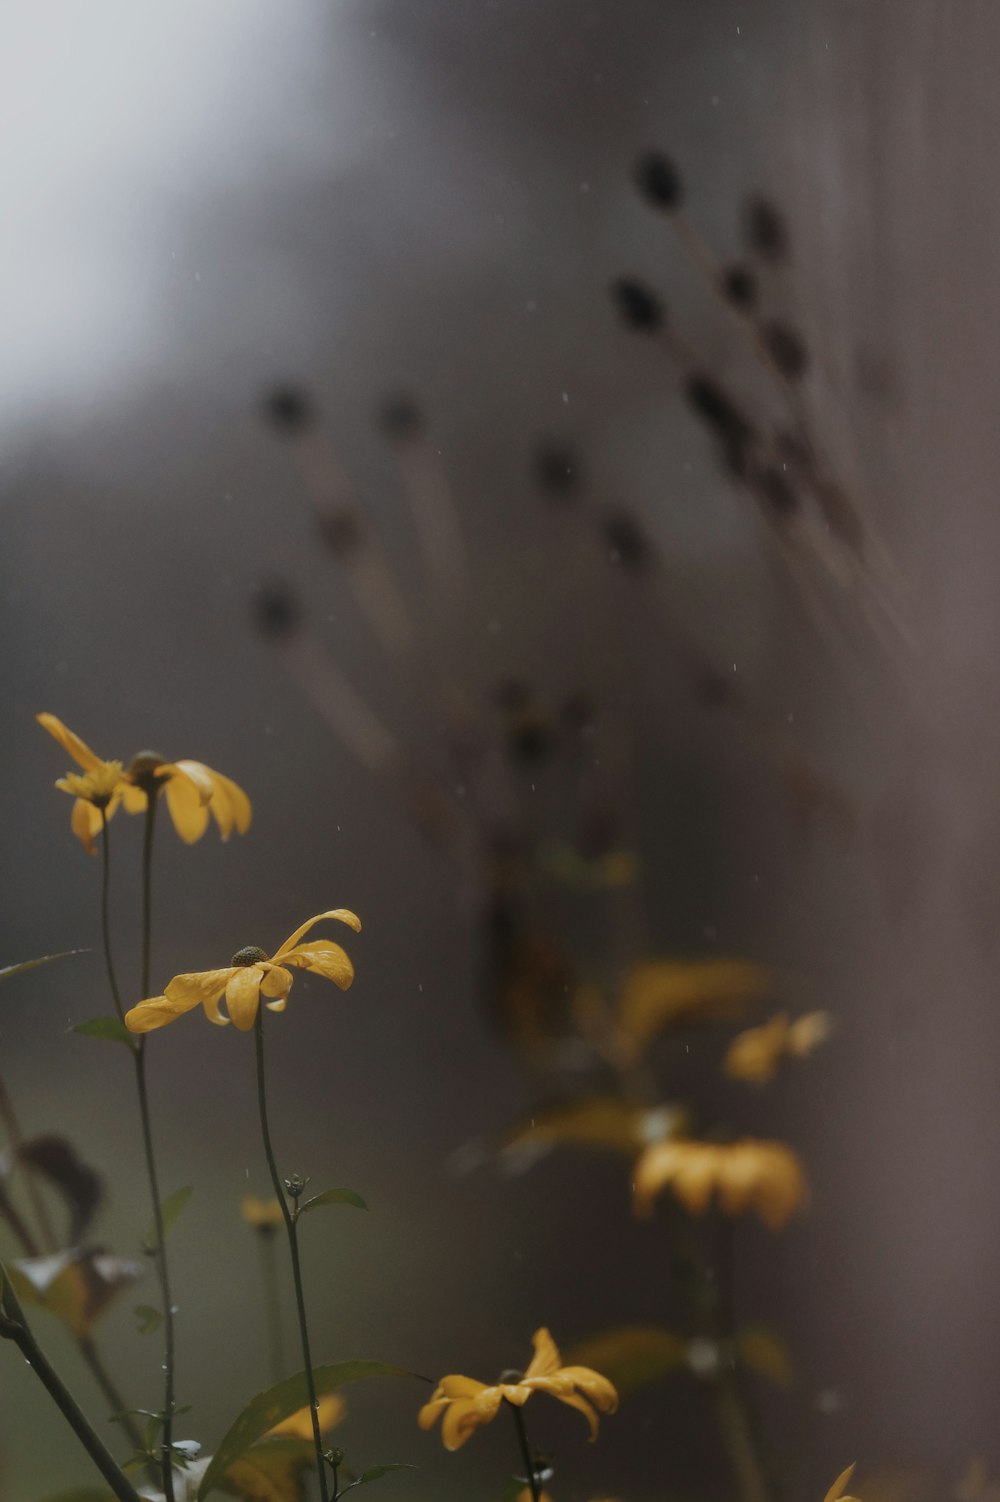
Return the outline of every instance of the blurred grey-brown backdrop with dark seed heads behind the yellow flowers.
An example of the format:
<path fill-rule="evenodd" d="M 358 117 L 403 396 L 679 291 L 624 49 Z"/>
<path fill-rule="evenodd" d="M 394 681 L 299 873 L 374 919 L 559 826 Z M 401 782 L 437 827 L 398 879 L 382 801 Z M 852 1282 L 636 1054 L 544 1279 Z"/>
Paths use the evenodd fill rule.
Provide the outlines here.
<path fill-rule="evenodd" d="M 776 1494 L 1000 1463 L 995 9 L 66 0 L 0 38 L 0 958 L 90 951 L 5 985 L 0 1057 L 24 1131 L 104 1175 L 92 1239 L 131 1254 L 149 1206 L 128 1063 L 71 1033 L 108 1005 L 99 867 L 39 710 L 254 801 L 228 844 L 162 822 L 156 985 L 362 915 L 354 988 L 300 978 L 270 1033 L 282 1164 L 371 1205 L 308 1227 L 318 1359 L 492 1380 L 539 1325 L 680 1328 L 628 1157 L 500 1149 L 607 1089 L 580 987 L 739 957 L 832 1039 L 766 1092 L 701 1035 L 652 1069 L 806 1167 L 808 1215 L 736 1226 L 793 1368 L 754 1379 Z M 153 1042 L 210 1448 L 269 1382 L 252 1045 Z M 102 1322 L 144 1406 L 152 1281 Z M 90 1481 L 0 1356 L 2 1494 Z M 553 1494 L 733 1496 L 703 1386 L 593 1449 L 536 1401 Z M 387 1497 L 497 1497 L 506 1427 L 449 1457 L 419 1400 L 353 1392 L 338 1442 L 419 1464 Z"/>

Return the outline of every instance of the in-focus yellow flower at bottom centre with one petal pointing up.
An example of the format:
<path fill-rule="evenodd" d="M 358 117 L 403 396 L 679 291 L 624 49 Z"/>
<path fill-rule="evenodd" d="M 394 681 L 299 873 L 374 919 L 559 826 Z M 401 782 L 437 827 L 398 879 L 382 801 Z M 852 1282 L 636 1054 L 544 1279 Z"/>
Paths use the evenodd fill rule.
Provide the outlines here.
<path fill-rule="evenodd" d="M 532 1343 L 535 1356 L 523 1376 L 505 1371 L 494 1386 L 473 1377 L 441 1377 L 434 1397 L 420 1409 L 420 1428 L 431 1428 L 438 1415 L 443 1415 L 444 1449 L 459 1449 L 473 1430 L 497 1416 L 505 1400 L 523 1407 L 533 1392 L 548 1392 L 560 1403 L 580 1409 L 590 1424 L 590 1437 L 596 1439 L 598 1413 L 614 1413 L 619 1406 L 614 1386 L 590 1367 L 563 1367 L 556 1341 L 547 1329 L 536 1329 Z M 505 1377 L 509 1380 L 503 1380 Z"/>

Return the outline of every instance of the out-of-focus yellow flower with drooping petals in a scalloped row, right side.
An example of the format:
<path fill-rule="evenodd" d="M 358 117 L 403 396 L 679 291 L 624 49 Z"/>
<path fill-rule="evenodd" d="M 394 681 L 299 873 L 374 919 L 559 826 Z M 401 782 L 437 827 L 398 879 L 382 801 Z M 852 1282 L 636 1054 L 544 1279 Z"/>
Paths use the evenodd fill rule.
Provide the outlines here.
<path fill-rule="evenodd" d="M 635 1209 L 649 1215 L 661 1190 L 670 1188 L 692 1215 L 704 1215 L 718 1193 L 727 1215 L 752 1209 L 779 1230 L 806 1200 L 806 1179 L 784 1142 L 658 1142 L 635 1164 Z"/>

